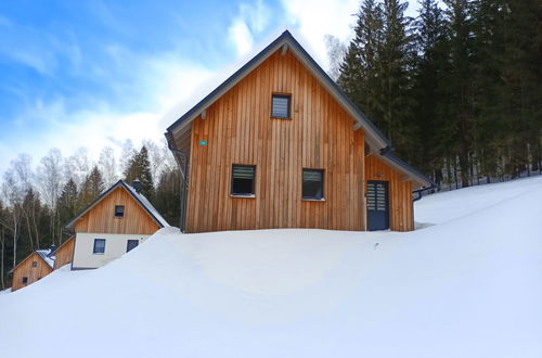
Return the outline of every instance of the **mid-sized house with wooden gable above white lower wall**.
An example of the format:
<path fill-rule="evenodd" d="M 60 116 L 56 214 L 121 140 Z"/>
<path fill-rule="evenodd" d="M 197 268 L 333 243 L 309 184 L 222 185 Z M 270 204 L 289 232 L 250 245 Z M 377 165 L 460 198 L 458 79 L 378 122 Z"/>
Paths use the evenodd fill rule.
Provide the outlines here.
<path fill-rule="evenodd" d="M 131 187 L 119 180 L 66 226 L 74 231 L 72 269 L 101 267 L 168 226 L 141 194 L 139 182 Z"/>

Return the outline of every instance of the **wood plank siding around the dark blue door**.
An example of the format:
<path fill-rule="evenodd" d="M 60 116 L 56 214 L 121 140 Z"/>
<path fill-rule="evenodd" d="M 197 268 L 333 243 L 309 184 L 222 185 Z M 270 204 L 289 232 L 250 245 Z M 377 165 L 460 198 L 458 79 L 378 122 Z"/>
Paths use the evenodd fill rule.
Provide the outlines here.
<path fill-rule="evenodd" d="M 414 230 L 412 182 L 402 181 L 404 175 L 374 155 L 365 157 L 365 172 L 366 180 L 385 180 L 389 183 L 389 228 L 395 231 Z"/>

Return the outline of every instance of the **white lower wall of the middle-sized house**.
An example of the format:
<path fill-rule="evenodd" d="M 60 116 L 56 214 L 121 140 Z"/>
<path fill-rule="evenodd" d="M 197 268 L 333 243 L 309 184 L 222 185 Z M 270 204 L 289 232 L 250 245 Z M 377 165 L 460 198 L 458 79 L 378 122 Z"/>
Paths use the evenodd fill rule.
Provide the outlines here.
<path fill-rule="evenodd" d="M 128 240 L 139 240 L 140 244 L 150 235 L 143 234 L 111 234 L 78 232 L 75 238 L 74 263 L 72 268 L 91 269 L 104 266 L 126 254 Z M 105 239 L 105 253 L 93 254 L 94 239 Z"/>

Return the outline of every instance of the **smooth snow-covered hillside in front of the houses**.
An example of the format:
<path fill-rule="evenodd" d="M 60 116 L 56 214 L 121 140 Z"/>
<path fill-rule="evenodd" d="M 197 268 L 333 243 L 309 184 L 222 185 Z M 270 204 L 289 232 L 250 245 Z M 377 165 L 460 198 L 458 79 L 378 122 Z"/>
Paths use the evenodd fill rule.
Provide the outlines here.
<path fill-rule="evenodd" d="M 164 229 L 0 295 L 2 357 L 542 357 L 542 178 L 424 197 L 410 233 Z"/>

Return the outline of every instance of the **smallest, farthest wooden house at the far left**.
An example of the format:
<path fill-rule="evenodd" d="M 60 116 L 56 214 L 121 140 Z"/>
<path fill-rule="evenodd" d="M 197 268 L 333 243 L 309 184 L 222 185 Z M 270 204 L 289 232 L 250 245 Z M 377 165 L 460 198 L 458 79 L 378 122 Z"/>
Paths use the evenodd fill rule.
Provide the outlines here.
<path fill-rule="evenodd" d="M 13 273 L 11 290 L 26 287 L 41 280 L 53 271 L 54 259 L 51 255 L 53 250 L 37 250 L 11 270 Z"/>

